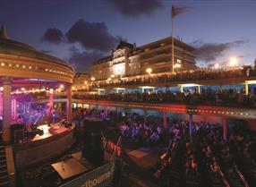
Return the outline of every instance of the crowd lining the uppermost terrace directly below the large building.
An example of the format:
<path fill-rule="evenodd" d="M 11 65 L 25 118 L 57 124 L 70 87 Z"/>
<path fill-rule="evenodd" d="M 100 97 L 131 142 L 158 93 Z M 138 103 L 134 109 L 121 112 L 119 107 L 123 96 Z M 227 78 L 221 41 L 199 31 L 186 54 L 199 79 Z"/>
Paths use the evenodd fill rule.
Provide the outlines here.
<path fill-rule="evenodd" d="M 124 85 L 140 85 L 144 83 L 168 83 L 172 81 L 207 81 L 217 79 L 229 78 L 243 78 L 252 77 L 256 75 L 256 70 L 252 67 L 244 67 L 243 69 L 232 70 L 209 70 L 198 68 L 196 70 L 182 71 L 182 72 L 165 72 L 158 74 L 151 74 L 141 77 L 121 79 L 118 81 L 94 82 L 92 87 L 106 87 L 106 86 L 124 86 Z"/>

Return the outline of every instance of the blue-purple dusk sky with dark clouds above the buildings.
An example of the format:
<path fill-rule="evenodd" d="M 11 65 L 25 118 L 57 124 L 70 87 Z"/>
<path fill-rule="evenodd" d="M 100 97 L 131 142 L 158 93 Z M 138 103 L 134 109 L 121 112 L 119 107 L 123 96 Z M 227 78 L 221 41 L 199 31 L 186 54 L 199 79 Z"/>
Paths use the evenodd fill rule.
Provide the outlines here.
<path fill-rule="evenodd" d="M 120 39 L 137 46 L 171 35 L 171 6 L 188 6 L 175 17 L 175 36 L 196 48 L 197 64 L 241 64 L 256 58 L 256 1 L 246 0 L 1 0 L 0 24 L 8 37 L 89 72 Z"/>

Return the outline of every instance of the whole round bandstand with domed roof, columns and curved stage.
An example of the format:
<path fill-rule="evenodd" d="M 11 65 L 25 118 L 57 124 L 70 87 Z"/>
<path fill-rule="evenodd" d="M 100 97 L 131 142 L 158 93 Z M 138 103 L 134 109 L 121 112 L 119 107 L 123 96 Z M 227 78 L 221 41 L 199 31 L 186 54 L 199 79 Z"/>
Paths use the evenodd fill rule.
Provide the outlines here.
<path fill-rule="evenodd" d="M 15 170 L 37 164 L 62 154 L 73 145 L 72 83 L 73 67 L 63 60 L 38 52 L 35 48 L 7 38 L 4 26 L 0 30 L 0 120 L 2 121 L 2 142 L 0 186 L 15 186 Z M 42 93 L 44 104 L 53 108 L 54 94 L 62 91 L 66 96 L 63 120 L 67 125 L 46 121 L 40 124 L 43 134 L 13 142 L 12 128 L 21 113 L 28 112 L 30 105 L 22 103 L 27 97 Z M 37 98 L 30 103 L 36 103 Z M 22 109 L 21 110 L 21 106 Z M 35 124 L 35 123 L 34 123 Z M 24 135 L 24 133 L 23 133 Z M 2 159 L 2 158 L 1 158 Z M 2 166 L 3 165 L 3 166 Z"/>

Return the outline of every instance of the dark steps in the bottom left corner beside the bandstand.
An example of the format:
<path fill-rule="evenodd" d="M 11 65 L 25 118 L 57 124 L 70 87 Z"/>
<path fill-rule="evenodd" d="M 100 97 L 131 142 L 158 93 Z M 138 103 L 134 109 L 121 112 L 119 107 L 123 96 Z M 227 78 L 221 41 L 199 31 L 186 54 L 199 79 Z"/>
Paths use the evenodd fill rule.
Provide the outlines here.
<path fill-rule="evenodd" d="M 0 187 L 9 187 L 9 174 L 7 171 L 4 146 L 0 145 Z"/>

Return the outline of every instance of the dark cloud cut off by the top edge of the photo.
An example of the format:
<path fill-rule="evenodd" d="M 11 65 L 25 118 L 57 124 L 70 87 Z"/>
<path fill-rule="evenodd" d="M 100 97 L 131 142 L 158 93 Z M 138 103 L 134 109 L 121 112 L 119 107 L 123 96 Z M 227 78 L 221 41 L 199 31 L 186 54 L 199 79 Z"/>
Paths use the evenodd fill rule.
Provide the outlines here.
<path fill-rule="evenodd" d="M 163 6 L 160 0 L 107 0 L 107 4 L 127 17 L 150 15 Z"/>

